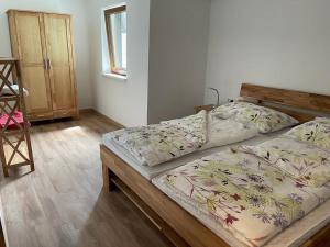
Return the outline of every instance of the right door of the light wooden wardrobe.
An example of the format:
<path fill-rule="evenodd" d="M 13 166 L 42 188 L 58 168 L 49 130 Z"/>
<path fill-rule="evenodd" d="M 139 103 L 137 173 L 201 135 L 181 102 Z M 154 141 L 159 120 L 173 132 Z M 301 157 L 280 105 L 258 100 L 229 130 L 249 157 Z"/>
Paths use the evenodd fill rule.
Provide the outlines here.
<path fill-rule="evenodd" d="M 44 14 L 55 117 L 77 112 L 70 16 Z"/>

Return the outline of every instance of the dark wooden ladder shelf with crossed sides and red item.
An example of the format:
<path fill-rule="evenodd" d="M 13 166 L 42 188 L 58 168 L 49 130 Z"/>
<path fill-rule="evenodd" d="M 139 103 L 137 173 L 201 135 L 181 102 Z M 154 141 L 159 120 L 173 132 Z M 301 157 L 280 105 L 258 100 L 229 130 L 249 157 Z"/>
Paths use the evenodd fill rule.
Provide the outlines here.
<path fill-rule="evenodd" d="M 0 58 L 0 160 L 4 177 L 14 167 L 30 166 L 34 171 L 24 90 L 19 61 L 14 58 Z"/>

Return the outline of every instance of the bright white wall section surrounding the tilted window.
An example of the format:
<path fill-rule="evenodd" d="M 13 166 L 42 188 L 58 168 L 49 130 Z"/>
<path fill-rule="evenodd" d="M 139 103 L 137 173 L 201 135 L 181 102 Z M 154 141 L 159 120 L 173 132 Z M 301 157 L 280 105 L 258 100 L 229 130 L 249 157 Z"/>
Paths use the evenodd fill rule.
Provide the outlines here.
<path fill-rule="evenodd" d="M 114 121 L 133 126 L 147 122 L 150 0 L 128 0 L 128 80 L 102 76 L 101 10 L 120 0 L 88 1 L 94 105 Z"/>

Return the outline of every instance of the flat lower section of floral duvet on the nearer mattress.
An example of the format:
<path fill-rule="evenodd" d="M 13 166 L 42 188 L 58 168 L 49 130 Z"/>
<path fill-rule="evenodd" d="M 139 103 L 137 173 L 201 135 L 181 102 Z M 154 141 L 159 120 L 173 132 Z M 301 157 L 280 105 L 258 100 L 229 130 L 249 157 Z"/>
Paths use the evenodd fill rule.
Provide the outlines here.
<path fill-rule="evenodd" d="M 261 157 L 237 150 L 193 161 L 153 183 L 218 235 L 220 226 L 253 247 L 265 245 L 330 195 L 329 183 L 301 183 Z"/>

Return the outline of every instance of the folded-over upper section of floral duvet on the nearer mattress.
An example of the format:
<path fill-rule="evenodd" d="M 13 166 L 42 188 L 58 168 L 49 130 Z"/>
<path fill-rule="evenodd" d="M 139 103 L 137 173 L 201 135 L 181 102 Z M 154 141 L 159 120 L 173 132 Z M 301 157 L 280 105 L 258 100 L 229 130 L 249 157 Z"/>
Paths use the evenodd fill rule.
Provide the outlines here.
<path fill-rule="evenodd" d="M 255 155 L 289 173 L 297 180 L 297 186 L 330 184 L 330 154 L 316 146 L 289 138 L 275 138 L 237 149 Z"/>

